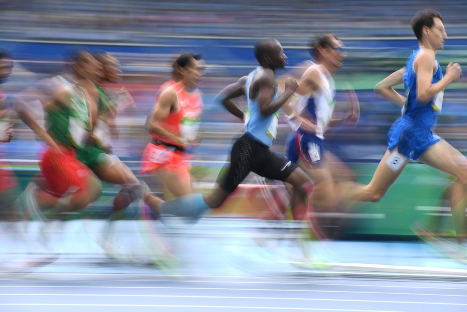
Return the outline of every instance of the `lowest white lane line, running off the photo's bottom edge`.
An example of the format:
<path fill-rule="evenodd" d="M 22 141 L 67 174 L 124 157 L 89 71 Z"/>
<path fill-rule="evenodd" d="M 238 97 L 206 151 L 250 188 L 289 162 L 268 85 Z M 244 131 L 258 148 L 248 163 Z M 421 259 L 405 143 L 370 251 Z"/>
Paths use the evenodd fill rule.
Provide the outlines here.
<path fill-rule="evenodd" d="M 243 306 L 194 306 L 194 305 L 112 305 L 112 304 L 0 304 L 0 306 L 46 306 L 46 307 L 152 307 L 152 308 L 211 308 L 211 309 L 263 309 L 263 310 L 301 310 L 301 311 L 353 311 L 353 312 L 401 312 L 389 310 L 352 310 L 291 307 L 243 307 Z"/>

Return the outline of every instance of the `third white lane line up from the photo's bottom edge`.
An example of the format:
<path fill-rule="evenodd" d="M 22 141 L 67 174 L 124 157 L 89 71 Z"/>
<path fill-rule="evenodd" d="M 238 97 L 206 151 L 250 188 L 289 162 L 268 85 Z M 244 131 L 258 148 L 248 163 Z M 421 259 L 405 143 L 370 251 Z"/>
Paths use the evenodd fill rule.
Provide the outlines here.
<path fill-rule="evenodd" d="M 330 284 L 322 284 L 330 285 Z M 159 286 L 0 286 L 0 288 L 91 288 L 91 289 L 172 289 L 172 290 L 228 290 L 228 291 L 261 291 L 261 292 L 298 292 L 298 293 L 343 293 L 343 294 L 385 294 L 385 295 L 414 295 L 414 296 L 444 296 L 444 297 L 467 297 L 467 295 L 450 294 L 419 294 L 419 293 L 391 293 L 391 292 L 357 292 L 357 291 L 332 291 L 312 289 L 266 289 L 266 288 L 212 288 L 212 287 L 159 287 Z M 443 288 L 436 288 L 443 289 Z M 448 288 L 456 290 L 467 290 L 464 288 Z M 0 296 L 16 296 L 21 294 L 0 294 Z M 27 295 L 27 294 L 24 294 Z"/>

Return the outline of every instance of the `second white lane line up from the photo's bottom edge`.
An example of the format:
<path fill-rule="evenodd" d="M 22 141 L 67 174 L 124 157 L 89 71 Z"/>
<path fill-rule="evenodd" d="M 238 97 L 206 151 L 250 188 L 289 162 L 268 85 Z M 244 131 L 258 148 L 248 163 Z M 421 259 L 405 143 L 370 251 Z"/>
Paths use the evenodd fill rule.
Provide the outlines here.
<path fill-rule="evenodd" d="M 467 304 L 421 302 L 421 301 L 394 301 L 394 300 L 365 300 L 365 299 L 335 299 L 335 298 L 287 298 L 287 297 L 248 297 L 248 296 L 195 296 L 195 295 L 129 295 L 129 294 L 3 294 L 7 296 L 52 296 L 52 297 L 138 297 L 138 298 L 199 298 L 199 299 L 255 299 L 255 300 L 297 300 L 297 301 L 345 301 L 345 302 L 374 302 L 387 304 L 417 304 L 417 305 L 449 305 L 467 306 Z"/>

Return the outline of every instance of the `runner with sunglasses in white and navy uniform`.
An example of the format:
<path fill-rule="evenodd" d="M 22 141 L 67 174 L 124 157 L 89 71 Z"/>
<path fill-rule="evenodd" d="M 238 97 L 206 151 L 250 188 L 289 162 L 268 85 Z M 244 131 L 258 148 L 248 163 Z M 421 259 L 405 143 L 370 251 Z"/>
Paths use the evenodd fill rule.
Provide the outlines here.
<path fill-rule="evenodd" d="M 325 149 L 324 133 L 330 127 L 355 123 L 359 104 L 353 90 L 348 91 L 351 112 L 344 118 L 333 119 L 335 84 L 332 75 L 346 57 L 344 46 L 334 34 L 327 33 L 316 38 L 312 51 L 314 62 L 310 62 L 299 81 L 299 89 L 289 102 L 293 110 L 288 118 L 296 132 L 288 140 L 287 158 L 297 163 L 314 182 L 315 211 L 342 212 L 338 183 L 343 179 L 354 181 L 353 173 L 337 156 Z M 329 219 L 327 222 L 334 224 Z M 323 221 L 321 224 L 325 225 Z"/>

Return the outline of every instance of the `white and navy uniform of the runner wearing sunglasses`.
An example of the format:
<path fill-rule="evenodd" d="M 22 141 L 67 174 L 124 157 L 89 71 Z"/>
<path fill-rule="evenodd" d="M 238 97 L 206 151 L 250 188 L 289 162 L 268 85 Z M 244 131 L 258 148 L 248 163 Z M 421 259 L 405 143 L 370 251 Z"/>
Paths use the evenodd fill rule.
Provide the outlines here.
<path fill-rule="evenodd" d="M 312 95 L 295 94 L 291 105 L 297 113 L 316 125 L 316 132 L 308 133 L 300 128 L 294 128 L 292 124 L 296 133 L 287 142 L 287 158 L 295 163 L 299 158 L 304 158 L 311 168 L 317 168 L 322 165 L 322 154 L 325 151 L 324 133 L 334 111 L 335 83 L 324 66 L 311 63 L 304 76 L 311 70 L 317 70 L 320 76 L 319 89 Z"/>

